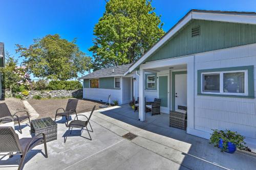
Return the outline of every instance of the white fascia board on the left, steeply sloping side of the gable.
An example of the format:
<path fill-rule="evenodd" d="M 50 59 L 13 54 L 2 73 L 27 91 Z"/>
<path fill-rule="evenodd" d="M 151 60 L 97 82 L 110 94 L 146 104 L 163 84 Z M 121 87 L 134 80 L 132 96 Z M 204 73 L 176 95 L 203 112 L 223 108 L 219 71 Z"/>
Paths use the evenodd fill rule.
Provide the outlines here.
<path fill-rule="evenodd" d="M 137 68 L 147 57 L 152 55 L 160 46 L 162 46 L 170 37 L 176 34 L 183 26 L 186 25 L 192 18 L 192 14 L 189 13 L 177 26 L 175 26 L 169 33 L 167 33 L 162 39 L 160 39 L 149 51 L 147 51 L 134 65 L 129 68 L 132 72 Z"/>

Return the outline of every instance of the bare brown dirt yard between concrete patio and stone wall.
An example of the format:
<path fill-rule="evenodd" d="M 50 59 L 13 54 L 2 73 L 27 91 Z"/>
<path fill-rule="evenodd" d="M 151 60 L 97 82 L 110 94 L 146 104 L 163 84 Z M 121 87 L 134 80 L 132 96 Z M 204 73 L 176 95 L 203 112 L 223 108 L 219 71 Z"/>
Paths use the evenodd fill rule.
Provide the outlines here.
<path fill-rule="evenodd" d="M 28 100 L 29 104 L 39 114 L 38 118 L 55 117 L 58 108 L 66 108 L 69 99 L 43 99 L 43 100 Z M 101 109 L 99 106 L 103 105 L 101 102 L 90 100 L 78 100 L 76 111 L 77 113 L 88 112 L 96 105 L 96 110 Z"/>

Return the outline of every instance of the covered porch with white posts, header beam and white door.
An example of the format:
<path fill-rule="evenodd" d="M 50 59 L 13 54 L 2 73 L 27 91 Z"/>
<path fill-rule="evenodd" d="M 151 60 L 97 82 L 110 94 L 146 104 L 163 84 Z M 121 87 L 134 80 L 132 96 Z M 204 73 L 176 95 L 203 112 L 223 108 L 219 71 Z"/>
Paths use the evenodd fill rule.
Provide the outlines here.
<path fill-rule="evenodd" d="M 139 120 L 146 121 L 145 101 L 161 100 L 160 112 L 187 113 L 187 132 L 194 129 L 194 56 L 158 60 L 140 65 Z M 155 75 L 155 88 L 148 88 Z M 169 126 L 169 115 L 163 124 Z M 154 117 L 154 116 L 153 116 Z"/>

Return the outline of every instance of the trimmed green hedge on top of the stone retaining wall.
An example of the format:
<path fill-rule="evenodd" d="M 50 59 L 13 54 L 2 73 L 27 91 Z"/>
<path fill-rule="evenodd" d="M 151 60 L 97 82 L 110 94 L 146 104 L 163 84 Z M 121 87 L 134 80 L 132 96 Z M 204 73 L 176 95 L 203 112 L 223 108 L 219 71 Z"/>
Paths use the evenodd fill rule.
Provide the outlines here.
<path fill-rule="evenodd" d="M 76 90 L 82 89 L 82 84 L 79 81 L 50 81 L 49 90 Z"/>

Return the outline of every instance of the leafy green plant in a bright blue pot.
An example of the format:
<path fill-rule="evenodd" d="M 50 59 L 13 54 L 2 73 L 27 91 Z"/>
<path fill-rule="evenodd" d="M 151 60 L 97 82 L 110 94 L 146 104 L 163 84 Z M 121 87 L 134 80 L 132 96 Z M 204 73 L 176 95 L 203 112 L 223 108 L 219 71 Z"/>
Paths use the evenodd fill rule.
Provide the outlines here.
<path fill-rule="evenodd" d="M 246 148 L 244 144 L 245 137 L 230 130 L 212 130 L 210 143 L 221 149 L 221 152 L 234 153 L 238 149 Z"/>

